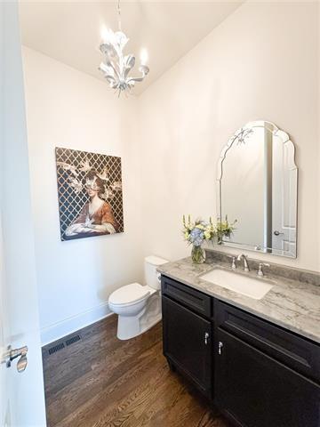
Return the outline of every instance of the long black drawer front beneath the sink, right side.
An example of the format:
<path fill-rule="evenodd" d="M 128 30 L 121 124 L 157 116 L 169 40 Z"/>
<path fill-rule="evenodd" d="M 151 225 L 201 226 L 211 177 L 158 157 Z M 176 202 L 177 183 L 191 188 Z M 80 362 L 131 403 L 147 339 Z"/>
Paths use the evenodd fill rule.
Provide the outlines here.
<path fill-rule="evenodd" d="M 320 345 L 216 300 L 217 326 L 320 383 Z"/>

